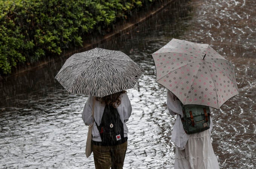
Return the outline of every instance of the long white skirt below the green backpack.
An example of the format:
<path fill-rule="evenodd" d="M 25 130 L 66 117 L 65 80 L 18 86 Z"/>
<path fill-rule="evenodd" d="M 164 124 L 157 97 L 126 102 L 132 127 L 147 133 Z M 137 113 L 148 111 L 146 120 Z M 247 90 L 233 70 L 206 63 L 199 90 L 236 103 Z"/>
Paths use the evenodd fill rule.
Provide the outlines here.
<path fill-rule="evenodd" d="M 208 130 L 190 134 L 185 149 L 180 150 L 176 147 L 174 168 L 219 169 Z"/>

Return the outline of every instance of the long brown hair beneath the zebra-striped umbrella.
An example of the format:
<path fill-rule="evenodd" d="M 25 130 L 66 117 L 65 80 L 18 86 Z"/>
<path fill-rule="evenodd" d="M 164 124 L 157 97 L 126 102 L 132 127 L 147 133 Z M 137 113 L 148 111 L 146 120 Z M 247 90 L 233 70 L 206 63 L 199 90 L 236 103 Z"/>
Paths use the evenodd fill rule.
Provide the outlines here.
<path fill-rule="evenodd" d="M 95 97 L 96 100 L 100 101 L 101 103 L 105 103 L 106 105 L 112 104 L 114 108 L 118 107 L 121 104 L 120 95 L 123 93 L 127 93 L 126 91 L 117 92 L 111 95 L 107 95 L 104 97 Z"/>

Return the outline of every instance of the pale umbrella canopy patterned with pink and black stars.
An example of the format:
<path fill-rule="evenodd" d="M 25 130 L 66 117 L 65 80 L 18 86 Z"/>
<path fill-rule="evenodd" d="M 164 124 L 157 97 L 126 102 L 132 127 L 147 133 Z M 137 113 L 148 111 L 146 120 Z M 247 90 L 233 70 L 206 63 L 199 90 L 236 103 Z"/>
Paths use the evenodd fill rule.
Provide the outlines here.
<path fill-rule="evenodd" d="M 234 66 L 208 44 L 172 39 L 152 57 L 156 82 L 184 105 L 219 109 L 239 94 Z"/>

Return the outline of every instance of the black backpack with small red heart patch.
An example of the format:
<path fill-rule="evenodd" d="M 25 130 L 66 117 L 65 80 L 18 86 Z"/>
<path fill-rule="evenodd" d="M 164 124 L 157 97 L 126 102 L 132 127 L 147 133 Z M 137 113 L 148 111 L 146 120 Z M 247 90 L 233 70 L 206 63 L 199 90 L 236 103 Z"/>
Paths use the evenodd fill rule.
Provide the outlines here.
<path fill-rule="evenodd" d="M 96 126 L 101 136 L 101 145 L 119 145 L 126 141 L 123 134 L 123 123 L 117 109 L 112 105 L 105 106 L 101 124 L 96 123 Z"/>

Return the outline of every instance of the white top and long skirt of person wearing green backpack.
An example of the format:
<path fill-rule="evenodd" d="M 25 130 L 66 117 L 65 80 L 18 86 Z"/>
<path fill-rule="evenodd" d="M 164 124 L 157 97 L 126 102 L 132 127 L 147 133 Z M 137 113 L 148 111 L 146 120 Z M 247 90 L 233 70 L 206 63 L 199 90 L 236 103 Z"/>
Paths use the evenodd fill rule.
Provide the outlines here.
<path fill-rule="evenodd" d="M 181 122 L 183 117 L 180 100 L 167 91 L 167 107 L 171 115 L 176 115 L 171 141 L 175 143 L 174 169 L 219 169 L 218 160 L 212 148 L 210 128 L 200 133 L 186 134 Z"/>

